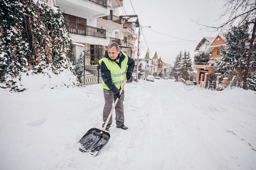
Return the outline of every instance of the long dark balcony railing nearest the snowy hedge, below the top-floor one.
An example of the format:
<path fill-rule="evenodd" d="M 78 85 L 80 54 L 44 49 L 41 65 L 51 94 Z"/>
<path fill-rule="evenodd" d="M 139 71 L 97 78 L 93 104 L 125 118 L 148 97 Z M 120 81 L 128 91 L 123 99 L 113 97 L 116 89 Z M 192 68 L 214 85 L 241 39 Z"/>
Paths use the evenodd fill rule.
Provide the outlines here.
<path fill-rule="evenodd" d="M 106 39 L 106 30 L 104 29 L 70 21 L 65 21 L 65 24 L 69 33 Z"/>

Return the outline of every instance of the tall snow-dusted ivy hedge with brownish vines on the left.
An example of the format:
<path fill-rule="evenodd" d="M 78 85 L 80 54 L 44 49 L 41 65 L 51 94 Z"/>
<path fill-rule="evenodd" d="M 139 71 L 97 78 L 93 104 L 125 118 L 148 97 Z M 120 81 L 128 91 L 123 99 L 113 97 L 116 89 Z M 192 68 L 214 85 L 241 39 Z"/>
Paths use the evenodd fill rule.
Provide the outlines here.
<path fill-rule="evenodd" d="M 0 14 L 2 88 L 23 91 L 24 73 L 66 74 L 59 85 L 78 84 L 69 61 L 71 39 L 57 7 L 47 0 L 0 0 Z"/>

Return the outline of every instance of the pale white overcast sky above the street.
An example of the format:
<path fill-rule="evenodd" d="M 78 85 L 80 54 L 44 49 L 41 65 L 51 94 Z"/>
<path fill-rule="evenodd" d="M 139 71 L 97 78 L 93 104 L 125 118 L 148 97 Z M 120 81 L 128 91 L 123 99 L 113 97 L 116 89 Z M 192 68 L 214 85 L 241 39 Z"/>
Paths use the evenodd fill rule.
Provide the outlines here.
<path fill-rule="evenodd" d="M 131 0 L 131 2 L 141 26 L 152 26 L 149 29 L 189 40 L 180 40 L 153 32 L 147 27 L 143 28 L 150 53 L 154 55 L 156 51 L 158 57 L 161 56 L 164 62 L 172 65 L 180 50 L 184 52 L 185 49 L 190 52 L 193 61 L 196 54 L 194 50 L 203 37 L 216 35 L 215 30 L 202 29 L 202 26 L 191 19 L 195 21 L 199 19 L 199 23 L 210 26 L 217 26 L 224 21 L 224 18 L 218 20 L 223 11 L 221 9 L 223 1 L 221 0 Z M 130 0 L 124 0 L 124 8 L 119 9 L 120 15 L 126 15 L 123 13 L 124 10 L 127 15 L 134 15 Z M 136 29 L 136 33 L 138 32 L 139 29 Z M 142 34 L 140 34 L 140 41 L 145 42 Z M 147 45 L 142 43 L 142 46 L 146 47 Z"/>

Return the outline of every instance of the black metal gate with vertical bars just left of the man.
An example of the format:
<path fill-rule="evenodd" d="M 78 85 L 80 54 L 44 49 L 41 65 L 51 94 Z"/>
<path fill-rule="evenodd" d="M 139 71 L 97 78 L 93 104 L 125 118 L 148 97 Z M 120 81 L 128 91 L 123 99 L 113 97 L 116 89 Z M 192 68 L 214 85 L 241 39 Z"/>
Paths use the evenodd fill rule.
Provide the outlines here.
<path fill-rule="evenodd" d="M 99 60 L 104 57 L 105 50 L 101 47 L 84 51 L 84 85 L 102 83 Z"/>

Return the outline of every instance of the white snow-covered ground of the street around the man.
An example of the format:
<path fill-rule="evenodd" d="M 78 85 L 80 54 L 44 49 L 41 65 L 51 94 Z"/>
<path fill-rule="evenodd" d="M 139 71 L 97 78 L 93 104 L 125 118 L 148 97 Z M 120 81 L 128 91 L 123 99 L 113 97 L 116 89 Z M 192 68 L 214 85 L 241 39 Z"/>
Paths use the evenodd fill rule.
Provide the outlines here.
<path fill-rule="evenodd" d="M 92 157 L 77 142 L 101 128 L 101 84 L 0 89 L 0 169 L 256 169 L 256 92 L 188 91 L 164 79 L 124 91 L 129 129 L 112 124 Z"/>

